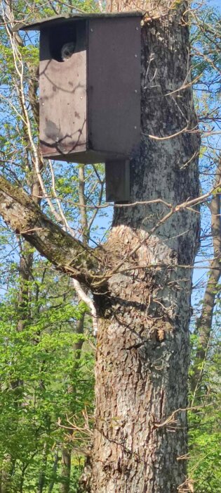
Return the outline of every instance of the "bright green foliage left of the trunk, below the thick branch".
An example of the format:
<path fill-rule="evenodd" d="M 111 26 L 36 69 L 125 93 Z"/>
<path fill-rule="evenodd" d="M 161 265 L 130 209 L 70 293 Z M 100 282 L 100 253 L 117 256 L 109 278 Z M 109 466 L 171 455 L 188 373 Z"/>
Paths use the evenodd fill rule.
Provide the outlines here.
<path fill-rule="evenodd" d="M 50 270 L 43 280 L 38 270 L 35 275 L 36 280 L 28 283 L 25 309 L 29 319 L 22 332 L 18 332 L 18 287 L 11 289 L 0 305 L 0 468 L 9 457 L 12 492 L 18 491 L 22 468 L 23 491 L 36 491 L 45 448 L 45 485 L 49 485 L 55 450 L 61 456 L 66 442 L 61 425 L 67 425 L 67 417 L 75 416 L 81 426 L 82 411 L 93 411 L 93 354 L 88 335 L 76 334 L 74 328 L 85 306 L 73 304 L 74 293 L 67 295 L 67 280 L 54 283 Z M 74 349 L 80 341 L 81 353 Z M 79 438 L 74 443 L 76 452 L 80 445 Z M 72 487 L 82 470 L 81 453 L 73 456 L 73 461 Z M 59 478 L 58 468 L 58 485 Z M 53 491 L 58 490 L 54 487 Z"/>

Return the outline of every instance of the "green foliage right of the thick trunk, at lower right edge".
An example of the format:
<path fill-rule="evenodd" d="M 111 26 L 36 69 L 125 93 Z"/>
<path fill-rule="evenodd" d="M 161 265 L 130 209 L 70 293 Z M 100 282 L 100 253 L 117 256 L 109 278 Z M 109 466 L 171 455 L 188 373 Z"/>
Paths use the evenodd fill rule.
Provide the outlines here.
<path fill-rule="evenodd" d="M 193 407 L 189 411 L 189 477 L 194 481 L 194 493 L 221 492 L 221 411 L 220 411 L 220 325 L 213 327 L 208 357 L 199 362 L 203 370 L 201 394 L 190 395 Z M 192 363 L 199 347 L 198 336 L 192 335 Z M 190 367 L 190 375 L 194 371 Z M 197 406 L 199 406 L 197 408 Z"/>

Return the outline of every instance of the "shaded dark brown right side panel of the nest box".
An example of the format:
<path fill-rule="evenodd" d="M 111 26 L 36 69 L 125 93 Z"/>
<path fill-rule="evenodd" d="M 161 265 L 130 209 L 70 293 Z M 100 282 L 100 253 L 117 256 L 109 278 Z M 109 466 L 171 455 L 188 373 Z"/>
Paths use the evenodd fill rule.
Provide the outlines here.
<path fill-rule="evenodd" d="M 88 25 L 89 146 L 130 156 L 140 145 L 140 18 Z"/>

